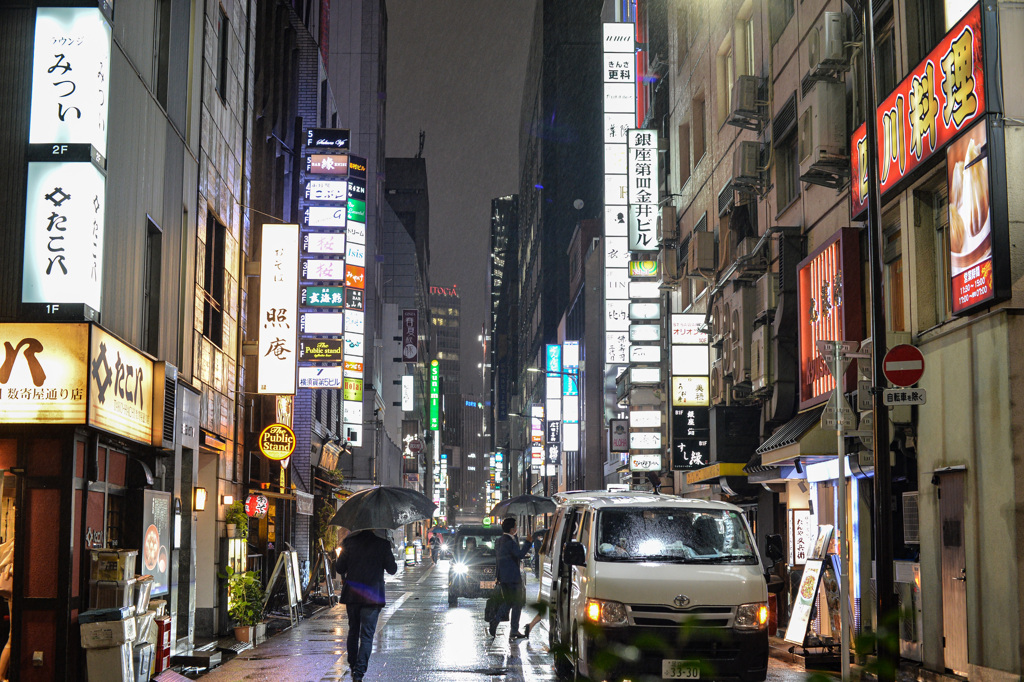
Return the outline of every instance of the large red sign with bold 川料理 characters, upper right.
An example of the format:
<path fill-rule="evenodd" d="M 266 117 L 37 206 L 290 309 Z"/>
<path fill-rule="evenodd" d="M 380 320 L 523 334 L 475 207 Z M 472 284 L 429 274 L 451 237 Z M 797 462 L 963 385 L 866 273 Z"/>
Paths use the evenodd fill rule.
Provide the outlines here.
<path fill-rule="evenodd" d="M 876 112 L 883 196 L 984 116 L 983 63 L 979 3 Z"/>

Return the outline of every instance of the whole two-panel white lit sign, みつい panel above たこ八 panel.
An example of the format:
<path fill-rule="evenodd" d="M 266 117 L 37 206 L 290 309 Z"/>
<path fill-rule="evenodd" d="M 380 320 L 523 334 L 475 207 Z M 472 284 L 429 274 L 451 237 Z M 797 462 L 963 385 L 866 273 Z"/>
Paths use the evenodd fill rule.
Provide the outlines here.
<path fill-rule="evenodd" d="M 100 309 L 110 55 L 99 9 L 36 10 L 22 301 L 47 316 Z"/>

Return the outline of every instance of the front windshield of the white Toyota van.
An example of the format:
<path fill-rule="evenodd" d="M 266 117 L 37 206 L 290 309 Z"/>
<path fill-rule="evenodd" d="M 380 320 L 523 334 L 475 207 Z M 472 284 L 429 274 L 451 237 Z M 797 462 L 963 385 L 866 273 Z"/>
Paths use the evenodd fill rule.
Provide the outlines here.
<path fill-rule="evenodd" d="M 728 510 L 602 510 L 595 554 L 598 561 L 758 562 L 742 517 Z"/>

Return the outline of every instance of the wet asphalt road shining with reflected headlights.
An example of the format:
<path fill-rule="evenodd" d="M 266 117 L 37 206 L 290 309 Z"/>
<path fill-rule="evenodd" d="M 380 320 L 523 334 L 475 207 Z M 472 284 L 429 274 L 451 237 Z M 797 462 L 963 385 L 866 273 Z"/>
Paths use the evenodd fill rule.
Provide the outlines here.
<path fill-rule="evenodd" d="M 447 605 L 447 561 L 429 561 L 387 577 L 388 604 L 366 680 L 387 682 L 535 682 L 555 680 L 542 621 L 526 640 L 509 643 L 509 624 L 492 639 L 483 622 L 482 599 Z M 537 600 L 537 582 L 527 583 L 527 603 Z M 520 627 L 532 619 L 523 610 Z M 255 649 L 204 675 L 204 682 L 350 681 L 344 606 L 325 609 Z M 802 668 L 772 659 L 769 682 L 803 682 Z"/>

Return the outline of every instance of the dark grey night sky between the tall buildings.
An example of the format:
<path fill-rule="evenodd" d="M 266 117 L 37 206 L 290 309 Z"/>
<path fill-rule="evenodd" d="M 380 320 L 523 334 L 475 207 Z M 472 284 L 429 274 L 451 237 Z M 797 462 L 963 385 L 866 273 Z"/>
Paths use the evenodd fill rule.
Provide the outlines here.
<path fill-rule="evenodd" d="M 462 391 L 482 391 L 490 200 L 519 189 L 519 112 L 534 0 L 387 0 L 387 156 L 430 187 L 430 280 L 458 286 Z"/>

